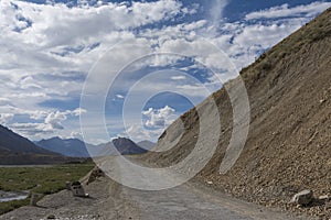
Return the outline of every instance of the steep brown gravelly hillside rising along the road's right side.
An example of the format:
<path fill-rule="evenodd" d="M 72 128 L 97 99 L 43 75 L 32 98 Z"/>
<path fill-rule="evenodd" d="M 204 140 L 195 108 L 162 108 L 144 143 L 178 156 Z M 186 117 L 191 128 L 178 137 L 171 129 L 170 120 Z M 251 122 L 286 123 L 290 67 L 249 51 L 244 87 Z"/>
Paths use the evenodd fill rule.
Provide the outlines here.
<path fill-rule="evenodd" d="M 249 134 L 241 157 L 220 175 L 232 133 L 232 107 L 224 89 L 213 94 L 222 132 L 216 154 L 197 177 L 249 201 L 331 217 L 331 205 L 296 208 L 291 196 L 312 189 L 331 194 L 331 10 L 280 42 L 243 69 L 250 102 Z M 181 117 L 184 133 L 170 151 L 150 153 L 159 165 L 174 164 L 194 147 L 199 117 Z M 159 142 L 174 134 L 170 127 Z"/>

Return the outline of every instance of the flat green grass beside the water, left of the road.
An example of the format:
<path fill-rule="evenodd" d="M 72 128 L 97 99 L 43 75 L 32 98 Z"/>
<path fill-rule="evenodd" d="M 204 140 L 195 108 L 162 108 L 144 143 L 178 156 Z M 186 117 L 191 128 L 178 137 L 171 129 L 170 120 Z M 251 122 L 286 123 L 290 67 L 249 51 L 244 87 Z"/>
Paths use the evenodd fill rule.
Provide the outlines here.
<path fill-rule="evenodd" d="M 78 180 L 95 164 L 67 164 L 51 167 L 0 167 L 0 190 L 29 190 L 42 195 L 57 193 L 65 188 L 65 182 Z M 0 215 L 29 205 L 30 198 L 0 202 Z"/>

